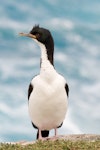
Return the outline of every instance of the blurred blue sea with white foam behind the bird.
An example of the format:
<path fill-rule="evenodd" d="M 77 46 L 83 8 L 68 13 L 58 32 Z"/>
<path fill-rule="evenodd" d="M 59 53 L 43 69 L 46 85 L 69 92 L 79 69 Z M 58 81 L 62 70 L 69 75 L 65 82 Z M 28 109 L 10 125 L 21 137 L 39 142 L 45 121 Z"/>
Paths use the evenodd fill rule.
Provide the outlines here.
<path fill-rule="evenodd" d="M 0 0 L 0 142 L 36 136 L 27 89 L 39 72 L 40 50 L 18 35 L 35 24 L 52 32 L 55 67 L 70 87 L 59 134 L 100 134 L 100 1 Z"/>

